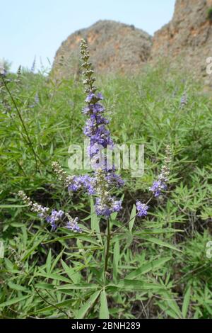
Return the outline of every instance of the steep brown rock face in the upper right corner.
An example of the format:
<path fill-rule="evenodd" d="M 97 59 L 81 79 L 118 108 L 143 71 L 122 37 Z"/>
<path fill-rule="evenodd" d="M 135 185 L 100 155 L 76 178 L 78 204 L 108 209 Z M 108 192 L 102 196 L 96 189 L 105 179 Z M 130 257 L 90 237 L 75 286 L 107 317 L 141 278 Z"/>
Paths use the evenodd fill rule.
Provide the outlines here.
<path fill-rule="evenodd" d="M 169 58 L 170 65 L 177 64 L 189 69 L 194 77 L 206 77 L 210 81 L 211 76 L 206 74 L 206 58 L 212 57 L 210 8 L 212 0 L 177 0 L 172 21 L 153 37 L 151 62 Z"/>

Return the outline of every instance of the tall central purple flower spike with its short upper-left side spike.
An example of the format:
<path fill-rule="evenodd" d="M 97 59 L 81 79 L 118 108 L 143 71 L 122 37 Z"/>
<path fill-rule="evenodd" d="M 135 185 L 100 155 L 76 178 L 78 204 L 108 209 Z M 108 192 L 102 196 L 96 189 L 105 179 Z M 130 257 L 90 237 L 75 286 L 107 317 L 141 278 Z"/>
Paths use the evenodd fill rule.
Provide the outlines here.
<path fill-rule="evenodd" d="M 103 100 L 101 93 L 97 93 L 97 88 L 94 86 L 95 77 L 93 77 L 93 70 L 89 60 L 89 51 L 84 40 L 81 40 L 81 59 L 83 60 L 82 67 L 85 69 L 83 72 L 85 79 L 83 84 L 86 86 L 85 92 L 87 106 L 83 108 L 83 113 L 88 116 L 86 125 L 83 130 L 84 134 L 89 137 L 90 145 L 88 147 L 88 155 L 93 158 L 105 149 L 108 145 L 113 146 L 112 138 L 110 137 L 110 130 L 107 125 L 109 120 L 105 118 L 105 108 L 100 101 Z M 64 181 L 64 185 L 69 191 L 82 190 L 88 195 L 95 195 L 95 211 L 98 215 L 110 216 L 113 212 L 118 212 L 122 208 L 121 201 L 116 200 L 111 195 L 111 189 L 123 186 L 124 181 L 122 178 L 115 174 L 114 167 L 107 167 L 107 160 L 102 163 L 97 162 L 95 165 L 95 174 L 93 176 L 68 176 L 65 171 L 57 162 L 52 163 L 52 167 L 57 174 L 59 180 Z M 72 228 L 72 223 L 69 223 L 69 228 Z M 78 227 L 73 227 L 77 230 Z"/>

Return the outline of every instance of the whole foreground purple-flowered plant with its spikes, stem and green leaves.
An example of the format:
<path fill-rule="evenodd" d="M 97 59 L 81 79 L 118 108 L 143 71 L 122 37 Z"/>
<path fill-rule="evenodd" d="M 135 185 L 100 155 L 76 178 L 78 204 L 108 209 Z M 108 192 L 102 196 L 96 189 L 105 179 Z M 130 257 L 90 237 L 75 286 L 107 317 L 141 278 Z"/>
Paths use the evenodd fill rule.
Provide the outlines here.
<path fill-rule="evenodd" d="M 54 242 L 74 238 L 77 240 L 78 252 L 82 255 L 78 256 L 79 263 L 73 268 L 71 275 L 69 268 L 64 264 L 64 270 L 71 276 L 71 283 L 55 286 L 58 290 L 66 290 L 66 292 L 79 288 L 88 290 L 85 299 L 83 299 L 83 305 L 81 304 L 76 311 L 76 317 L 86 317 L 90 309 L 98 303 L 100 304 L 99 317 L 109 318 L 108 295 L 110 297 L 117 290 L 126 292 L 139 290 L 142 293 L 156 290 L 159 293 L 160 290 L 165 288 L 154 279 L 151 282 L 146 282 L 145 279 L 140 278 L 143 272 L 142 267 L 126 272 L 121 280 L 118 278 L 118 272 L 120 249 L 122 249 L 120 241 L 124 242 L 124 239 L 131 239 L 131 243 L 133 237 L 137 237 L 169 247 L 169 244 L 159 242 L 157 238 L 148 237 L 151 234 L 158 233 L 157 230 L 141 231 L 139 228 L 139 230 L 134 231 L 134 222 L 136 217 L 146 218 L 151 200 L 160 198 L 163 196 L 163 192 L 167 191 L 172 155 L 170 146 L 167 146 L 165 163 L 158 179 L 149 188 L 151 198 L 146 203 L 136 201 L 131 210 L 131 218 L 126 223 L 120 223 L 117 216 L 122 210 L 123 197 L 117 198 L 115 191 L 117 188 L 124 186 L 124 181 L 117 174 L 114 165 L 108 164 L 106 157 L 101 161 L 98 158 L 101 149 L 106 149 L 108 146 L 112 149 L 114 143 L 108 129 L 109 120 L 105 118 L 105 108 L 102 105 L 103 96 L 97 92 L 98 89 L 94 86 L 95 77 L 93 77 L 92 64 L 89 62 L 90 55 L 84 40 L 81 41 L 81 58 L 85 77 L 83 84 L 86 92 L 86 107 L 83 108 L 83 114 L 87 117 L 83 132 L 90 140 L 88 155 L 93 163 L 93 172 L 81 176 L 70 175 L 61 168 L 58 162 L 53 162 L 52 168 L 69 193 L 81 191 L 91 197 L 91 213 L 88 217 L 90 219 L 90 229 L 78 217 L 72 217 L 69 212 L 64 212 L 61 209 L 56 210 L 55 208 L 50 210 L 49 207 L 33 203 L 23 191 L 19 191 L 18 194 L 33 213 L 37 213 L 39 218 L 49 224 L 52 231 L 58 230 L 59 235 L 61 235 L 61 232 L 65 234 L 65 236 L 61 235 L 54 239 Z M 92 244 L 93 247 L 88 247 L 87 243 Z M 152 262 L 151 266 L 143 269 L 145 272 L 151 271 L 151 269 L 163 265 L 169 259 L 167 257 L 160 258 Z M 81 264 L 82 261 L 84 261 L 83 265 Z M 86 274 L 83 271 L 85 269 Z M 79 271 L 81 271 L 81 274 L 79 274 Z M 73 278 L 73 276 L 78 276 L 78 278 Z M 49 278 L 53 277 L 49 276 Z"/>

